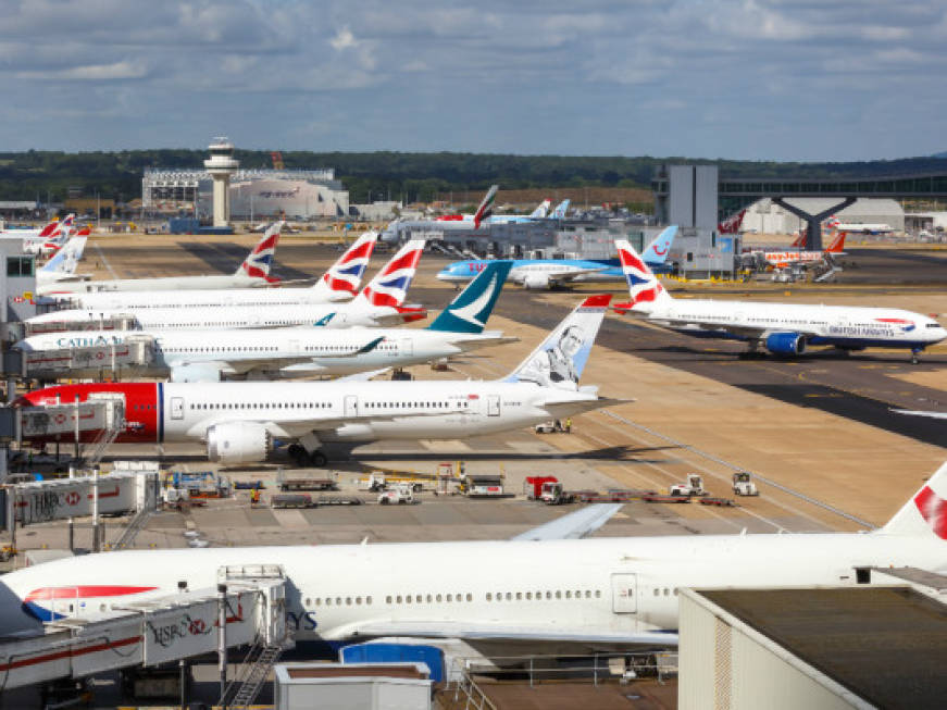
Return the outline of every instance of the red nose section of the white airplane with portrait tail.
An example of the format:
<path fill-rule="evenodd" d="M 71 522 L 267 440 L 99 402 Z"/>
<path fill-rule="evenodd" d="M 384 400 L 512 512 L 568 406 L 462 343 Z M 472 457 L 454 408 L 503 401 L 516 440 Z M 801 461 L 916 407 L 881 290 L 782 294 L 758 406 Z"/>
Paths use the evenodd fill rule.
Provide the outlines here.
<path fill-rule="evenodd" d="M 158 401 L 158 383 L 96 383 L 83 385 L 54 385 L 23 395 L 17 399 L 21 407 L 38 407 L 59 403 L 71 404 L 86 401 L 91 394 L 117 393 L 125 396 L 125 431 L 116 441 L 123 444 L 154 444 L 158 441 L 161 403 Z M 90 441 L 98 436 L 97 429 L 79 432 L 80 441 Z M 73 440 L 68 434 L 51 434 L 34 437 L 34 441 L 54 441 L 57 436 L 62 440 Z M 24 437 L 25 438 L 25 437 Z"/>

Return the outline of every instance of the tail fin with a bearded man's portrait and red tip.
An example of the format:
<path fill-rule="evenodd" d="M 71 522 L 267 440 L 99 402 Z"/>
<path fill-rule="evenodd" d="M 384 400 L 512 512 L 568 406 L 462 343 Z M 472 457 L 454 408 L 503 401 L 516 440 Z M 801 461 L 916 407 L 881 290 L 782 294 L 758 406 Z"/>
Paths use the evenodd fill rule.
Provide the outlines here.
<path fill-rule="evenodd" d="M 610 300 L 611 294 L 586 298 L 504 382 L 576 389 Z"/>

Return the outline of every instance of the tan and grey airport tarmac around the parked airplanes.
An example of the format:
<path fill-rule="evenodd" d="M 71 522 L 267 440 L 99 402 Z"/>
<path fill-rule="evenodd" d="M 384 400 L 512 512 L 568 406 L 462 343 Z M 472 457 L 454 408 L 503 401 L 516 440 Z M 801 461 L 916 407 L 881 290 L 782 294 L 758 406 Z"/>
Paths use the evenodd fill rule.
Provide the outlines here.
<path fill-rule="evenodd" d="M 96 277 L 229 273 L 257 238 L 94 237 L 86 265 L 95 266 Z M 333 246 L 284 237 L 274 273 L 284 279 L 312 279 L 337 256 Z M 385 258 L 373 258 L 369 276 Z M 675 297 L 885 304 L 947 314 L 942 252 L 865 247 L 850 249 L 845 259 L 848 264 L 833 284 L 668 284 Z M 453 288 L 434 276 L 448 261 L 425 254 L 409 300 L 443 308 Z M 607 286 L 550 292 L 508 284 L 488 327 L 520 342 L 457 359 L 448 372 L 427 365 L 408 370 L 418 379 L 500 377 L 584 295 L 627 295 L 621 284 Z M 940 321 L 947 323 L 947 317 Z M 890 411 L 947 411 L 947 344 L 930 349 L 918 365 L 899 351 L 745 360 L 739 357 L 743 349 L 737 342 L 689 339 L 609 314 L 583 384 L 599 386 L 603 396 L 634 401 L 576 416 L 571 434 L 516 431 L 363 446 L 353 461 L 332 464 L 342 491 L 364 500 L 358 507 L 270 509 L 277 471 L 291 465 L 286 460 L 222 470 L 233 481 L 263 479 L 263 505 L 252 507 L 249 494 L 240 491 L 186 514 L 158 512 L 135 545 L 184 547 L 185 532 L 197 532 L 211 546 L 502 539 L 574 509 L 526 500 L 526 476 L 555 475 L 571 489 L 665 491 L 697 472 L 711 495 L 732 498 L 735 471 L 753 474 L 758 498 L 737 499 L 733 508 L 634 501 L 596 535 L 868 530 L 883 525 L 947 458 L 947 422 Z M 128 458 L 159 458 L 169 471 L 220 470 L 207 462 L 199 444 L 114 445 L 105 461 Z M 471 500 L 426 490 L 420 505 L 379 506 L 358 489 L 358 478 L 375 470 L 434 474 L 439 463 L 456 461 L 463 461 L 469 473 L 502 473 L 506 490 L 513 495 Z M 109 543 L 117 539 L 123 523 L 109 521 Z M 82 536 L 80 531 L 80 546 Z M 21 550 L 65 545 L 62 524 L 17 532 Z"/>

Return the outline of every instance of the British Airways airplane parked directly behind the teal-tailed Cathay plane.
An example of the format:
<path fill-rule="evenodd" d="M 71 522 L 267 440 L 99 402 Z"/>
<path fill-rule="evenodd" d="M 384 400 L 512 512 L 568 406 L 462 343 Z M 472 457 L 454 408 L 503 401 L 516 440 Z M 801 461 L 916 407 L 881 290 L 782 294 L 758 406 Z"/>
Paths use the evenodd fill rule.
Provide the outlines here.
<path fill-rule="evenodd" d="M 149 308 L 147 303 L 138 302 L 135 306 L 116 306 L 112 309 L 49 311 L 27 319 L 27 322 L 54 324 L 52 327 L 58 329 L 76 329 L 85 323 L 96 323 L 124 314 L 134 316 L 137 327 L 147 331 L 222 331 L 291 325 L 320 325 L 331 328 L 400 325 L 426 315 L 423 308 L 402 306 L 423 250 L 423 239 L 408 241 L 375 278 L 347 303 L 310 303 L 307 299 L 320 298 L 321 294 L 348 294 L 352 279 L 359 278 L 364 271 L 361 263 L 352 265 L 349 262 L 349 265 L 344 264 L 340 269 L 337 269 L 337 263 L 313 288 L 188 291 L 188 295 L 196 295 L 195 298 L 200 299 L 200 303 L 194 308 L 187 303 Z M 345 256 L 339 262 L 344 259 Z M 230 296 L 232 292 L 237 296 Z M 214 296 L 215 294 L 220 296 Z M 228 303 L 228 299 L 236 302 Z"/>

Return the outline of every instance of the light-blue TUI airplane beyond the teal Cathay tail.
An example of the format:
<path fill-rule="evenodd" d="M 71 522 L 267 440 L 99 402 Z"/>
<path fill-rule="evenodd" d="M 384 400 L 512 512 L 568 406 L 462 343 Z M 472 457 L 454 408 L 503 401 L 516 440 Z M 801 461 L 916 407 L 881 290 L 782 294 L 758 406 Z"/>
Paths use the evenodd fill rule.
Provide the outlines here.
<path fill-rule="evenodd" d="M 677 234 L 676 226 L 670 226 L 645 250 L 645 259 L 655 267 L 661 267 Z M 463 284 L 476 276 L 494 260 L 474 259 L 456 261 L 445 266 L 438 274 L 440 281 Z M 525 288 L 559 288 L 572 284 L 610 283 L 624 281 L 621 263 L 616 259 L 598 261 L 594 259 L 516 259 L 512 262 L 510 281 Z"/>

